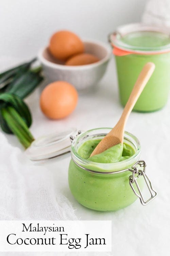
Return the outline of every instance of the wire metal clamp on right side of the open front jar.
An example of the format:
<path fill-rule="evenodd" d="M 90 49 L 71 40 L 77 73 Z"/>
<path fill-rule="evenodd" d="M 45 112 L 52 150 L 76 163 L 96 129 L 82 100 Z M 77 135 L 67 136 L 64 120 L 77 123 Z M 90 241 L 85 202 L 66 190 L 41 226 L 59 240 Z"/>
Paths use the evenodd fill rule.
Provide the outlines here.
<path fill-rule="evenodd" d="M 141 170 L 141 168 L 143 168 L 143 170 Z M 140 202 L 142 205 L 147 205 L 150 201 L 152 201 L 157 196 L 156 191 L 153 190 L 152 184 L 151 184 L 148 176 L 145 173 L 145 169 L 146 169 L 145 161 L 140 160 L 140 161 L 136 162 L 134 166 L 132 166 L 132 175 L 129 176 L 129 184 L 130 184 L 134 194 L 140 199 Z M 148 190 L 150 192 L 150 195 L 151 195 L 151 197 L 147 201 L 144 200 L 142 192 L 139 187 L 139 184 L 137 182 L 137 179 L 140 176 L 143 176 L 145 183 L 147 184 Z M 136 190 L 132 184 L 136 185 L 136 188 L 137 188 L 139 194 L 136 192 Z"/>

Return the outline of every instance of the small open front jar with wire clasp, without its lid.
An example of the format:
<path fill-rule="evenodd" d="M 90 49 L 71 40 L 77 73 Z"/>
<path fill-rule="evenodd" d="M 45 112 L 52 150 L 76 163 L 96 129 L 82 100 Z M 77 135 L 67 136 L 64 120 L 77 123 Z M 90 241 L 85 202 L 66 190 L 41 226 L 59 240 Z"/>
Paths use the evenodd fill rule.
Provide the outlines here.
<path fill-rule="evenodd" d="M 125 132 L 124 142 L 134 148 L 135 154 L 124 161 L 96 163 L 78 154 L 82 143 L 89 139 L 102 139 L 110 130 L 92 129 L 74 138 L 68 171 L 71 193 L 79 203 L 97 211 L 122 209 L 138 197 L 142 204 L 146 204 L 156 196 L 156 192 L 152 190 L 150 200 L 144 201 L 141 189 L 146 178 L 143 179 L 146 164 L 140 161 L 140 142 L 133 134 Z"/>

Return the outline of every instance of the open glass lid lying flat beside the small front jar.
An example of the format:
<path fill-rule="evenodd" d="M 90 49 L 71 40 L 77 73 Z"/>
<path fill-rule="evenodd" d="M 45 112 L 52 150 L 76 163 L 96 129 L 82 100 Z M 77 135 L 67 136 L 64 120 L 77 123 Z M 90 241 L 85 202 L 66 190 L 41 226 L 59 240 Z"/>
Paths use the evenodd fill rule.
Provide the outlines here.
<path fill-rule="evenodd" d="M 77 135 L 76 128 L 63 132 L 54 132 L 34 140 L 25 151 L 33 161 L 47 160 L 67 154 L 71 151 L 71 138 Z"/>

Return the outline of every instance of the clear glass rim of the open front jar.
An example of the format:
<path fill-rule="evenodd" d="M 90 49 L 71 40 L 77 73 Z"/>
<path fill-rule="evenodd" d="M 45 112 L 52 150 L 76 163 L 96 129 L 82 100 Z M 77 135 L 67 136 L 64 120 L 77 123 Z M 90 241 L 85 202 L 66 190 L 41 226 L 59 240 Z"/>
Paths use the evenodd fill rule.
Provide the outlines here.
<path fill-rule="evenodd" d="M 130 132 L 127 132 L 125 131 L 124 134 L 125 135 L 128 135 L 129 137 L 131 137 L 135 142 L 136 142 L 136 151 L 135 151 L 135 154 L 131 157 L 129 157 L 128 159 L 125 159 L 123 161 L 120 161 L 120 162 L 115 162 L 115 163 L 97 163 L 97 162 L 93 162 L 93 161 L 90 161 L 90 160 L 87 160 L 87 159 L 84 159 L 82 158 L 77 150 L 75 149 L 75 146 L 76 146 L 76 143 L 78 142 L 78 140 L 80 140 L 82 137 L 86 137 L 88 133 L 92 132 L 92 131 L 99 131 L 99 130 L 106 130 L 106 129 L 109 129 L 111 130 L 112 128 L 109 128 L 109 127 L 102 127 L 102 128 L 95 128 L 95 129 L 90 129 L 90 130 L 87 130 L 86 132 L 83 132 L 81 134 L 79 134 L 77 137 L 74 138 L 73 142 L 72 142 L 72 145 L 71 145 L 71 157 L 73 159 L 76 158 L 78 161 L 80 161 L 82 163 L 82 165 L 80 165 L 81 167 L 83 167 L 84 165 L 95 165 L 97 167 L 99 167 L 100 169 L 105 169 L 104 167 L 116 167 L 118 164 L 120 165 L 123 165 L 123 164 L 126 164 L 128 162 L 130 162 L 131 160 L 135 159 L 136 156 L 138 156 L 141 152 L 141 146 L 140 146 L 140 142 L 139 140 L 136 138 L 136 136 L 134 136 L 132 133 Z M 103 134 L 103 135 L 106 135 L 107 133 Z M 96 133 L 95 134 L 96 136 L 97 135 L 100 135 L 100 133 Z M 124 137 L 126 139 L 126 137 Z M 75 159 L 73 159 L 73 161 L 75 162 Z M 84 168 L 85 170 L 88 171 L 87 168 Z M 124 171 L 127 171 L 127 168 L 126 169 L 123 169 Z M 94 172 L 94 173 L 103 173 L 103 174 L 111 174 L 113 173 L 113 170 L 111 172 L 98 172 L 98 171 L 95 171 L 95 170 L 92 170 L 92 169 L 89 169 L 89 171 L 91 172 Z M 116 173 L 116 172 L 115 172 Z"/>

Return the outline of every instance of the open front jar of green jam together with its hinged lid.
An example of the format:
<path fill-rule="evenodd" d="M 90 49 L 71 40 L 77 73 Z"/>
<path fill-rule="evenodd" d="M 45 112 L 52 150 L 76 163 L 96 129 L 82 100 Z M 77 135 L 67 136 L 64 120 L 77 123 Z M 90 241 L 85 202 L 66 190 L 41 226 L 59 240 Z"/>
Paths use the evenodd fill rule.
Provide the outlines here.
<path fill-rule="evenodd" d="M 137 198 L 146 205 L 156 196 L 145 174 L 145 161 L 140 160 L 140 143 L 131 133 L 125 132 L 124 142 L 135 150 L 135 154 L 117 163 L 96 163 L 83 159 L 78 148 L 89 139 L 102 139 L 111 128 L 92 129 L 81 133 L 75 128 L 52 133 L 32 142 L 25 151 L 36 162 L 66 156 L 71 152 L 68 181 L 71 193 L 85 207 L 98 211 L 115 211 L 128 206 Z M 147 185 L 150 198 L 144 200 L 141 193 Z"/>

